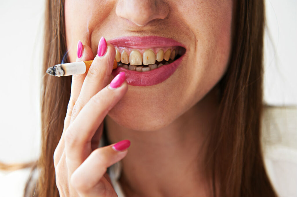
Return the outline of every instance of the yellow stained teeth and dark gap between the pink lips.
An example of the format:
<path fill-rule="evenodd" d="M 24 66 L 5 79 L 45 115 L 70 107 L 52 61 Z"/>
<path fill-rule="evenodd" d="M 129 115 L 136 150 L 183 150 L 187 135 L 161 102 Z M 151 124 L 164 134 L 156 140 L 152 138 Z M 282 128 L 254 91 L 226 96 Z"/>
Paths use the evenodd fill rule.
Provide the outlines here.
<path fill-rule="evenodd" d="M 147 72 L 173 63 L 184 55 L 186 49 L 180 46 L 132 49 L 116 47 L 118 67 L 130 71 Z"/>

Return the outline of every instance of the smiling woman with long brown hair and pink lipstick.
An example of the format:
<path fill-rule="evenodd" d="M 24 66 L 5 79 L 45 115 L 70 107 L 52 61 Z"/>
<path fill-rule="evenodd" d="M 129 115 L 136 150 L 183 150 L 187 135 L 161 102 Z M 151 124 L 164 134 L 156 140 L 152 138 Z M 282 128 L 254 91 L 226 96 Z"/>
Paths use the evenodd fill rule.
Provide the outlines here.
<path fill-rule="evenodd" d="M 125 196 L 276 196 L 260 146 L 263 1 L 56 0 L 46 10 L 44 72 L 66 52 L 94 62 L 43 78 L 31 195 L 117 196 L 106 169 L 121 161 Z M 126 65 L 112 71 L 119 57 Z"/>

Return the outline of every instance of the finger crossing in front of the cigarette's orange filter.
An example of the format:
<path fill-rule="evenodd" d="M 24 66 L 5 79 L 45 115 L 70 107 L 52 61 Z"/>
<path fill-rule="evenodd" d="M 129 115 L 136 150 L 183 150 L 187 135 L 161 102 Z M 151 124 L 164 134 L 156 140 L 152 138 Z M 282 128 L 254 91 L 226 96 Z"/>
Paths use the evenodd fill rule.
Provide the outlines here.
<path fill-rule="evenodd" d="M 99 45 L 102 44 L 102 42 L 103 44 L 107 44 L 105 39 L 103 39 L 103 41 L 100 39 Z M 115 56 L 116 50 L 111 44 L 107 44 L 106 53 L 103 56 L 99 57 L 96 55 L 83 81 L 80 95 L 73 107 L 71 122 L 76 118 L 90 98 L 108 84 Z"/>

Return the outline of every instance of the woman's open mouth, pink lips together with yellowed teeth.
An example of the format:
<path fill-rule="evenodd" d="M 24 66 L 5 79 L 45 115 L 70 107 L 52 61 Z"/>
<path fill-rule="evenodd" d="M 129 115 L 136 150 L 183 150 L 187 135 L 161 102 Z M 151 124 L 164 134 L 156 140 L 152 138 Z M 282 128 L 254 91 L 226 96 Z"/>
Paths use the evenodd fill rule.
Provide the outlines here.
<path fill-rule="evenodd" d="M 108 41 L 116 48 L 118 67 L 113 76 L 125 72 L 132 86 L 152 86 L 168 79 L 180 65 L 186 48 L 183 44 L 158 36 L 128 36 Z"/>

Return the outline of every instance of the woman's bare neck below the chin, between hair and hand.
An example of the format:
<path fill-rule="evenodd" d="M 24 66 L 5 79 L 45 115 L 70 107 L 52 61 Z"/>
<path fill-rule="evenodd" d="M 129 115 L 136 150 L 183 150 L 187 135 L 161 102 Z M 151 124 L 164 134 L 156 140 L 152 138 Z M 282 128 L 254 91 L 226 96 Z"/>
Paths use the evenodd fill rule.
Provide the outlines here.
<path fill-rule="evenodd" d="M 154 131 L 127 129 L 106 117 L 111 143 L 131 141 L 119 180 L 126 196 L 211 195 L 204 160 L 206 134 L 217 110 L 214 103 L 210 92 L 171 124 Z"/>

